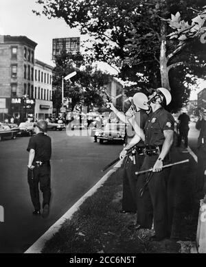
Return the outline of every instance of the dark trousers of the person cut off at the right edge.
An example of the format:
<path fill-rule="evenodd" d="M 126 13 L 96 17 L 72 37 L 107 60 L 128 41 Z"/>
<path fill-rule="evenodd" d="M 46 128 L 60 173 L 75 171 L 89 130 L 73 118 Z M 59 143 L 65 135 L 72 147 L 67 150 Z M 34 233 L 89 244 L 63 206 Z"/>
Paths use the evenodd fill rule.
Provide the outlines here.
<path fill-rule="evenodd" d="M 197 150 L 198 156 L 198 170 L 196 177 L 196 191 L 203 193 L 203 196 L 206 194 L 206 147 L 201 146 Z"/>

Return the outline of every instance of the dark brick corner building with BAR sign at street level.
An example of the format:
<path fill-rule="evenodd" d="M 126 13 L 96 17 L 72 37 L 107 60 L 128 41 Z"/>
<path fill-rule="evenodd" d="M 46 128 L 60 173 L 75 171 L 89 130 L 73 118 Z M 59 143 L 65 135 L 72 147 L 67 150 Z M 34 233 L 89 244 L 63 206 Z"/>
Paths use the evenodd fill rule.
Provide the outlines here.
<path fill-rule="evenodd" d="M 36 45 L 26 36 L 0 36 L 0 121 L 34 113 Z"/>

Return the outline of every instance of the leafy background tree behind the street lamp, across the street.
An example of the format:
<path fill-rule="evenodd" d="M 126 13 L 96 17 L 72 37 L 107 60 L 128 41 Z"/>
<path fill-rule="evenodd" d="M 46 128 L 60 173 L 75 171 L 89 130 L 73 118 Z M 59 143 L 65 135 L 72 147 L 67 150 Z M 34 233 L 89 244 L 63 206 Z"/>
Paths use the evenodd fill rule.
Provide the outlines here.
<path fill-rule="evenodd" d="M 81 55 L 71 55 L 65 51 L 56 56 L 55 62 L 53 84 L 56 90 L 53 103 L 57 110 L 62 105 L 62 77 L 73 71 L 77 74 L 71 78 L 72 83 L 64 82 L 64 97 L 71 98 L 71 110 L 73 111 L 76 104 L 83 104 L 87 107 L 103 106 L 102 86 L 108 84 L 110 79 L 108 73 L 103 73 L 97 67 L 91 67 L 91 64 L 84 62 Z M 83 70 L 78 69 L 76 65 L 82 65 Z"/>

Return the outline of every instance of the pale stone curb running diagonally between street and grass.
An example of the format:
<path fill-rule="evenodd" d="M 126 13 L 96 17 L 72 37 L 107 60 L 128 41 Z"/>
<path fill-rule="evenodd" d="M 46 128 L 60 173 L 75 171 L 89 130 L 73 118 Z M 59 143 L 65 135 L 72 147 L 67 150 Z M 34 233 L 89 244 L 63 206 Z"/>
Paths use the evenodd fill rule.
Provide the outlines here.
<path fill-rule="evenodd" d="M 109 176 L 111 176 L 111 174 L 117 171 L 117 169 L 121 166 L 122 161 L 123 160 L 119 160 L 117 164 L 111 170 L 109 170 L 100 179 L 100 181 L 98 181 L 98 183 L 91 187 L 91 189 L 89 189 L 86 194 L 84 194 L 59 220 L 57 220 L 51 227 L 49 227 L 49 229 L 43 235 L 41 235 L 41 237 L 39 237 L 38 240 L 36 240 L 36 242 L 32 246 L 30 246 L 30 248 L 27 248 L 27 251 L 25 251 L 24 253 L 41 253 L 43 247 L 45 246 L 45 243 L 50 240 L 55 233 L 59 231 L 65 220 L 71 219 L 73 213 L 78 211 L 80 205 L 82 205 L 84 200 L 89 198 L 89 196 L 92 196 L 97 191 L 97 189 L 104 184 L 104 182 L 109 178 Z"/>

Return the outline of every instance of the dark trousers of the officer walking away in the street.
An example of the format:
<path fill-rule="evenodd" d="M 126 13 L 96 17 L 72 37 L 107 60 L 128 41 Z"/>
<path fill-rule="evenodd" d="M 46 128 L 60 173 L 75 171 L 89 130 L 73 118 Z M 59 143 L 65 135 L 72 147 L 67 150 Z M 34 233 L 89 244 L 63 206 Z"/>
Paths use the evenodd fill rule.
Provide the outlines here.
<path fill-rule="evenodd" d="M 30 195 L 32 198 L 32 203 L 34 205 L 34 209 L 40 210 L 41 205 L 39 202 L 39 189 L 38 185 L 40 185 L 40 189 L 43 192 L 43 207 L 45 204 L 49 205 L 49 201 L 51 198 L 51 167 L 50 164 L 43 164 L 41 166 L 35 166 L 34 170 L 28 169 L 27 178 L 28 183 L 30 185 Z"/>

